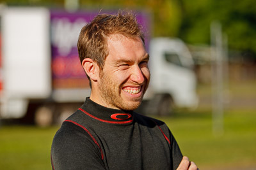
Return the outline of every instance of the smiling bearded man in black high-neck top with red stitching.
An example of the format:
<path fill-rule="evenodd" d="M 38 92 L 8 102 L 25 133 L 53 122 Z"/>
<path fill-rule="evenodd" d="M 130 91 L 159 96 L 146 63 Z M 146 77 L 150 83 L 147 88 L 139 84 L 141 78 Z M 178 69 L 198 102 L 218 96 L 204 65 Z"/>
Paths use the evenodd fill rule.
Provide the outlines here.
<path fill-rule="evenodd" d="M 54 136 L 52 169 L 197 169 L 164 122 L 133 111 L 150 81 L 134 15 L 98 15 L 77 46 L 92 92 Z"/>

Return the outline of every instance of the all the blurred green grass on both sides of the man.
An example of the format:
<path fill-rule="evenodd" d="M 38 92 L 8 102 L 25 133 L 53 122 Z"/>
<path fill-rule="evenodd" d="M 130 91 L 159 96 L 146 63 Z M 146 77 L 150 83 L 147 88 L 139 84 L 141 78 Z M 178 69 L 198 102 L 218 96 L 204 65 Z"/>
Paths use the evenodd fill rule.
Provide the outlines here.
<path fill-rule="evenodd" d="M 160 119 L 170 127 L 182 153 L 200 169 L 256 168 L 255 111 L 226 111 L 220 136 L 212 133 L 209 110 L 179 110 L 172 117 Z M 51 141 L 57 130 L 58 127 L 1 127 L 1 169 L 51 169 Z"/>

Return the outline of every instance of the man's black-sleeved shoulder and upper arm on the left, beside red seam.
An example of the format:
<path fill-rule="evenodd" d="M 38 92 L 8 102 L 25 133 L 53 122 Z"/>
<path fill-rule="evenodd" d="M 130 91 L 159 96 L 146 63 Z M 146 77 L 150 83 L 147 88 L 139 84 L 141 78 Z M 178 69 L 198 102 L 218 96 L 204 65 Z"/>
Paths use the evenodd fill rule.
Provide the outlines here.
<path fill-rule="evenodd" d="M 56 169 L 102 169 L 102 150 L 90 130 L 65 121 L 52 141 L 52 167 Z M 95 167 L 97 166 L 97 168 Z"/>

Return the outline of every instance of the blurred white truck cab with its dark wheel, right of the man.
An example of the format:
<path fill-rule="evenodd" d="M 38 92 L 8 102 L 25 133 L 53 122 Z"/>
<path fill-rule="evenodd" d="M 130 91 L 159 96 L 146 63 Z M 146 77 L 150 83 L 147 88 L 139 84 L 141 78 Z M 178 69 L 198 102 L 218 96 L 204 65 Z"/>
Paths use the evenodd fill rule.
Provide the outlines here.
<path fill-rule="evenodd" d="M 154 38 L 150 41 L 150 85 L 138 111 L 168 115 L 173 106 L 196 108 L 196 75 L 187 46 L 180 39 Z"/>

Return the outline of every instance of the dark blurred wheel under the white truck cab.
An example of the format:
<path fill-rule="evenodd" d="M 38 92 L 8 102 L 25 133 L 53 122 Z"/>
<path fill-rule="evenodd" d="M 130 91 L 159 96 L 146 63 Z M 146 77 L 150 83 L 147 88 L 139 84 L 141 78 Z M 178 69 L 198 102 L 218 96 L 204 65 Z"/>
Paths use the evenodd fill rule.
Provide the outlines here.
<path fill-rule="evenodd" d="M 172 112 L 172 97 L 170 95 L 163 95 L 157 106 L 157 115 L 168 116 Z"/>

